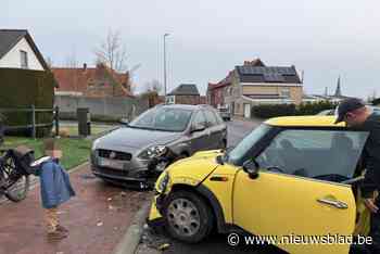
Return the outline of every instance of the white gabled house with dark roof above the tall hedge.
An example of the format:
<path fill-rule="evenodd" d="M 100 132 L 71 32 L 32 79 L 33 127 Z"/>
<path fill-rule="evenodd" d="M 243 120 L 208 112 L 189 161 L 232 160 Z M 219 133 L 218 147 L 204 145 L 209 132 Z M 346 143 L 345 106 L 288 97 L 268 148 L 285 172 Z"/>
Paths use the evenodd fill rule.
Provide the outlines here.
<path fill-rule="evenodd" d="M 49 69 L 25 29 L 0 29 L 0 68 Z"/>

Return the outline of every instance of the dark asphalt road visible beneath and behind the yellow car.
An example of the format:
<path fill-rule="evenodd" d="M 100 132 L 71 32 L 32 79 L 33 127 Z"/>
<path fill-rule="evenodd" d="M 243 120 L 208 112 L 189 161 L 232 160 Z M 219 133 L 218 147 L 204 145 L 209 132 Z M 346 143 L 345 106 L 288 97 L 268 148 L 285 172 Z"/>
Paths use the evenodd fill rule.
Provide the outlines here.
<path fill-rule="evenodd" d="M 228 144 L 227 147 L 235 147 L 242 140 L 246 135 L 249 135 L 259 122 L 244 122 L 244 120 L 233 120 L 228 122 Z M 214 233 L 198 244 L 185 244 L 175 241 L 167 236 L 156 234 L 149 229 L 144 230 L 142 237 L 142 243 L 139 245 L 137 254 L 231 254 L 231 253 L 255 253 L 255 254 L 277 254 L 282 253 L 273 246 L 253 246 L 239 244 L 238 246 L 228 245 L 226 234 Z M 157 251 L 160 246 L 168 243 L 169 246 L 163 252 Z"/>

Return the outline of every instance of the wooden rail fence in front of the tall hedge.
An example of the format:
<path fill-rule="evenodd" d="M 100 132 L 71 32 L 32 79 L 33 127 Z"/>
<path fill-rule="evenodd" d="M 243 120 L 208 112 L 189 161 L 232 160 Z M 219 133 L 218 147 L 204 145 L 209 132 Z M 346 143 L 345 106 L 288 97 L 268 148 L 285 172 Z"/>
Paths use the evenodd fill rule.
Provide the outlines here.
<path fill-rule="evenodd" d="M 36 109 L 35 105 L 31 105 L 29 109 L 0 109 L 0 113 L 30 113 L 30 118 L 28 120 L 29 124 L 26 125 L 16 125 L 16 126 L 8 126 L 7 123 L 3 126 L 3 130 L 18 130 L 18 129 L 30 129 L 31 130 L 31 138 L 36 138 L 37 128 L 41 127 L 52 127 L 53 123 L 55 126 L 55 135 L 59 135 L 59 107 L 55 106 L 54 109 Z M 38 113 L 52 113 L 53 114 L 53 122 L 51 123 L 37 123 L 36 122 L 36 115 Z"/>

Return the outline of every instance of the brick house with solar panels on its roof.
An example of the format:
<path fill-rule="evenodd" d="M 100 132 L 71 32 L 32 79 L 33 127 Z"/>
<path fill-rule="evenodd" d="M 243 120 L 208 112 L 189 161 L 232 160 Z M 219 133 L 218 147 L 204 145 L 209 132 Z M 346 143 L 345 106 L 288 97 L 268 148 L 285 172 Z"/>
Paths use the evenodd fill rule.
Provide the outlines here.
<path fill-rule="evenodd" d="M 303 84 L 295 66 L 266 66 L 261 60 L 236 66 L 225 103 L 235 115 L 251 117 L 257 104 L 300 104 Z"/>

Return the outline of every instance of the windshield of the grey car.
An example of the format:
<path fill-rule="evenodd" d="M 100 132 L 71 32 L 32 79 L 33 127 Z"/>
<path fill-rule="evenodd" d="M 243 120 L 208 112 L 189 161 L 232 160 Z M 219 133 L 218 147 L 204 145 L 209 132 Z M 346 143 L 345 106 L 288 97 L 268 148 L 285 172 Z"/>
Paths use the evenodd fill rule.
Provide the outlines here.
<path fill-rule="evenodd" d="M 159 107 L 147 111 L 129 124 L 132 128 L 164 131 L 183 131 L 188 126 L 192 111 Z"/>

